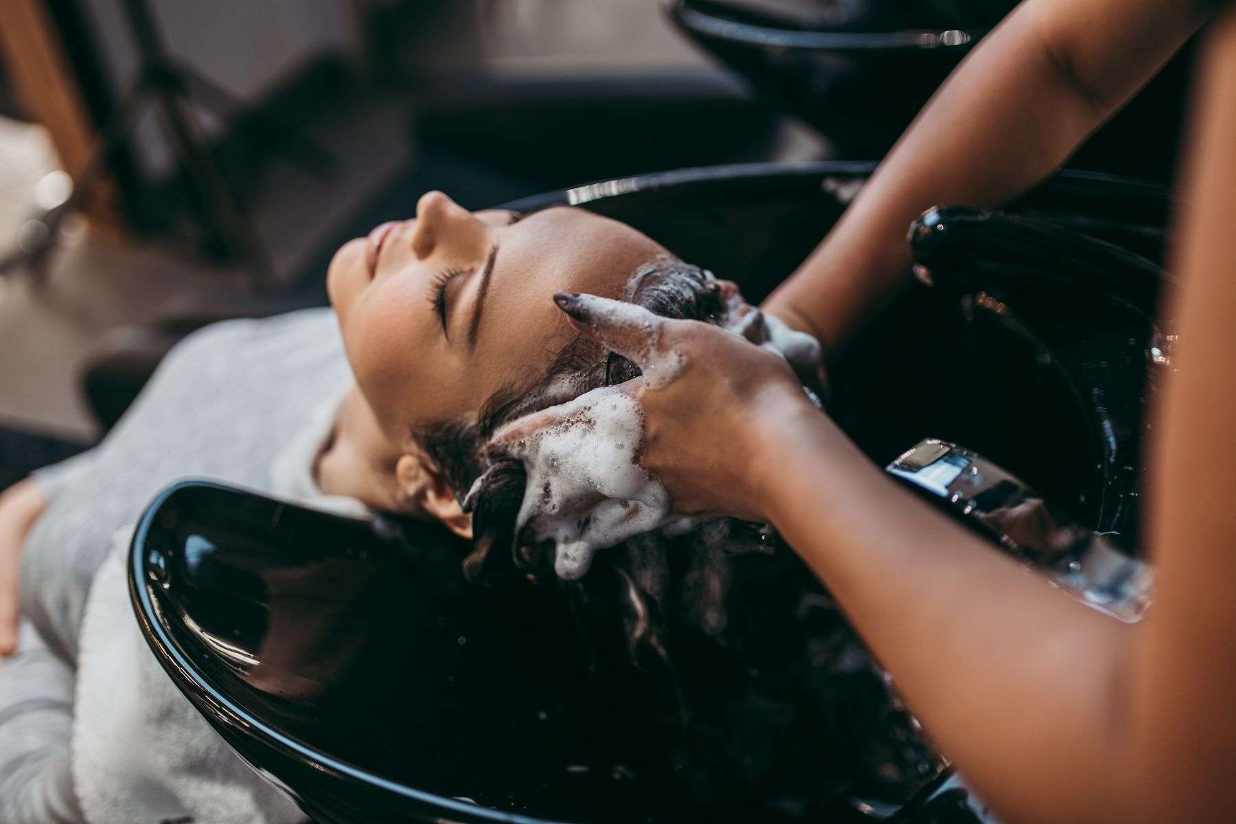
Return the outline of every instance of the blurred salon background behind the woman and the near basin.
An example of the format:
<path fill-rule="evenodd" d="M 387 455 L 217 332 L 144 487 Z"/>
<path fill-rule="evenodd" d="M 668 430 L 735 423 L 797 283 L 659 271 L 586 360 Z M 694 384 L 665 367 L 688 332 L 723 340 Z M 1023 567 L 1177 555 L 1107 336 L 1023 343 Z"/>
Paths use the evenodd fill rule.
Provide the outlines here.
<path fill-rule="evenodd" d="M 429 189 L 879 159 L 1014 5 L 4 0 L 0 450 L 93 442 L 192 329 L 325 303 Z M 1190 59 L 1074 164 L 1168 180 Z"/>

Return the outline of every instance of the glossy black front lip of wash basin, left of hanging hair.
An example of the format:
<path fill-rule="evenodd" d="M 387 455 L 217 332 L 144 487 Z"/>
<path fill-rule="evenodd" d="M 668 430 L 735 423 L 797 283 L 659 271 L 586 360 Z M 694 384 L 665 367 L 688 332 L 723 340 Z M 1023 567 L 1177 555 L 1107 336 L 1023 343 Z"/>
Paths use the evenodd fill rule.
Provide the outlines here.
<path fill-rule="evenodd" d="M 565 605 L 468 587 L 436 531 L 188 482 L 133 546 L 132 595 L 168 673 L 315 820 L 682 813 L 645 763 L 648 730 L 590 699 L 604 691 Z"/>

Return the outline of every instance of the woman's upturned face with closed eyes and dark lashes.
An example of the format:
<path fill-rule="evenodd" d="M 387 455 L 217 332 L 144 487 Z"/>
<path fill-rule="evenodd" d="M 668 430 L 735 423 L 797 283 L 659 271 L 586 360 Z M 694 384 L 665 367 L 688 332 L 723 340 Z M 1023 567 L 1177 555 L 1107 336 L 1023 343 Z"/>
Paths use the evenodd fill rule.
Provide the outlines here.
<path fill-rule="evenodd" d="M 554 293 L 620 298 L 632 273 L 665 253 L 580 209 L 473 214 L 430 191 L 415 219 L 344 245 L 326 280 L 357 384 L 403 444 L 534 380 L 574 337 Z"/>

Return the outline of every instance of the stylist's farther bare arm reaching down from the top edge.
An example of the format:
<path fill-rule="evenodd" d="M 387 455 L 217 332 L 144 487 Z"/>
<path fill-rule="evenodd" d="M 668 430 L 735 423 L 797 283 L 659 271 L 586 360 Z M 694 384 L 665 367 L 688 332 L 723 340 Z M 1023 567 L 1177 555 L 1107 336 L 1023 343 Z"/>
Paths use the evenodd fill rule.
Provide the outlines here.
<path fill-rule="evenodd" d="M 1057 169 L 1195 31 L 1179 4 L 1027 0 L 937 93 L 765 309 L 834 350 L 908 279 L 906 231 L 941 204 L 995 206 Z"/>

